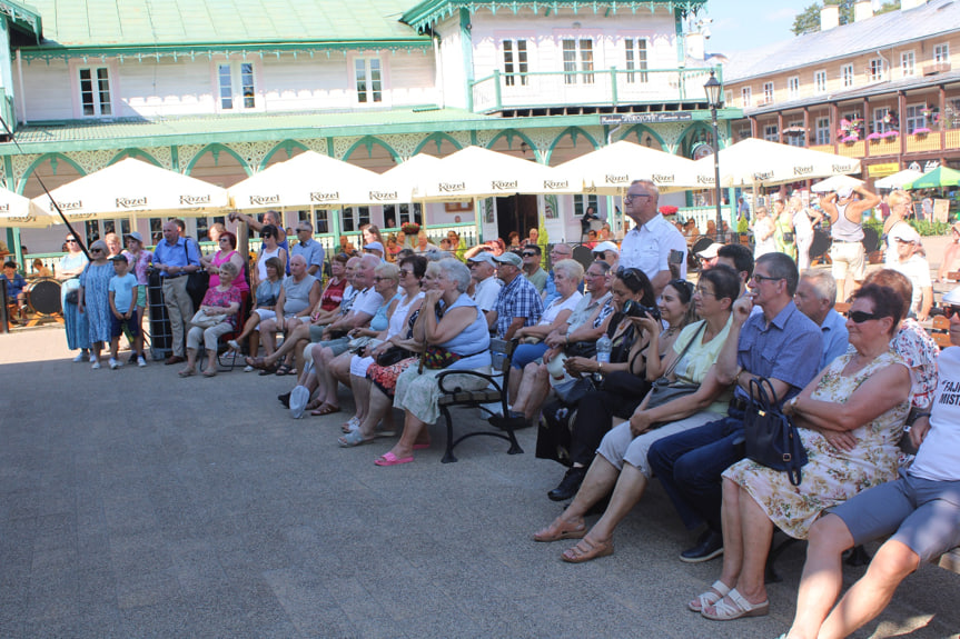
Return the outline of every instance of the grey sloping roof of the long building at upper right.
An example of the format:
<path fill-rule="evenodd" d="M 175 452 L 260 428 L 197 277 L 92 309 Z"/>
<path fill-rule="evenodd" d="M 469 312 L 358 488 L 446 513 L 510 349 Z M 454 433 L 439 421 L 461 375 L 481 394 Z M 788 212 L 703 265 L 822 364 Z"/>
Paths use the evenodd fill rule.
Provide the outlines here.
<path fill-rule="evenodd" d="M 890 11 L 827 31 L 798 36 L 769 47 L 730 54 L 724 83 L 822 64 L 878 49 L 960 30 L 960 1 L 931 0 L 907 11 Z"/>

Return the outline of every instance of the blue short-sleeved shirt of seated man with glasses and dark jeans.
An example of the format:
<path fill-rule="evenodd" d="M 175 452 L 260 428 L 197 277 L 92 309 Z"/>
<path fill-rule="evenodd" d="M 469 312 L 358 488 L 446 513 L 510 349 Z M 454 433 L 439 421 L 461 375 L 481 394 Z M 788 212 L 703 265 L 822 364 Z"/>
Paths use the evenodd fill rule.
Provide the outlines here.
<path fill-rule="evenodd" d="M 748 318 L 740 329 L 736 363 L 746 372 L 790 385 L 786 397 L 780 398 L 788 400 L 799 395 L 820 372 L 822 352 L 820 327 L 790 300 L 769 325 L 763 313 Z M 734 395 L 739 399 L 749 398 L 739 385 Z"/>

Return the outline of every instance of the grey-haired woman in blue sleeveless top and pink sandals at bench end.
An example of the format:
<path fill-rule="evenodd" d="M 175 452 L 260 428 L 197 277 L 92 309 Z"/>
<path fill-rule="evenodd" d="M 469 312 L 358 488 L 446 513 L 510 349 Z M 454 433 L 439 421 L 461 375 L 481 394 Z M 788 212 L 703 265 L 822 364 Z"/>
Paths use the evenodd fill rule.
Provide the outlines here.
<path fill-rule="evenodd" d="M 410 367 L 397 379 L 394 406 L 404 409 L 404 432 L 394 448 L 377 458 L 377 466 L 396 466 L 414 460 L 414 445 L 428 443 L 426 426 L 439 418 L 441 398 L 437 376 L 446 370 L 479 370 L 489 373 L 489 330 L 486 317 L 469 296 L 471 272 L 454 258 L 437 262 L 439 290 L 424 297 L 424 333 L 427 350 L 423 367 Z M 442 319 L 437 319 L 437 310 Z M 458 386 L 476 390 L 487 380 L 471 376 L 452 376 L 447 388 Z"/>

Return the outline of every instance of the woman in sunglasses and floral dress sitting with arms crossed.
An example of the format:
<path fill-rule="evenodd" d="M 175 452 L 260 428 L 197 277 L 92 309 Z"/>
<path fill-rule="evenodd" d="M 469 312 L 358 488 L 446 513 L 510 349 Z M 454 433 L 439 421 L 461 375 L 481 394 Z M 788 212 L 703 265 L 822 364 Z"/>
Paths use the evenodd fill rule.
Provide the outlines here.
<path fill-rule="evenodd" d="M 910 372 L 890 350 L 902 304 L 887 287 L 853 293 L 847 330 L 855 352 L 833 360 L 785 405 L 809 457 L 800 486 L 749 459 L 723 472 L 723 573 L 692 610 L 719 621 L 766 615 L 763 571 L 774 526 L 805 539 L 824 510 L 897 478 L 910 410 Z M 741 300 L 734 312 L 749 308 Z"/>

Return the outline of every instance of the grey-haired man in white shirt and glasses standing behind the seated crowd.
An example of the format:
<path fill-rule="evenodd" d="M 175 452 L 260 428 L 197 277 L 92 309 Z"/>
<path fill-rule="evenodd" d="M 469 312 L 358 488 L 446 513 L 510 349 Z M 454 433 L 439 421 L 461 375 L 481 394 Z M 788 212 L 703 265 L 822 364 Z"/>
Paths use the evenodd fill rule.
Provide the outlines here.
<path fill-rule="evenodd" d="M 659 201 L 660 190 L 652 181 L 634 180 L 630 184 L 623 198 L 623 212 L 635 222 L 635 227 L 626 233 L 620 250 L 620 266 L 642 270 L 650 278 L 657 296 L 673 279 L 670 272 L 671 251 L 683 253 L 680 278 L 686 279 L 686 240 L 657 211 Z"/>

